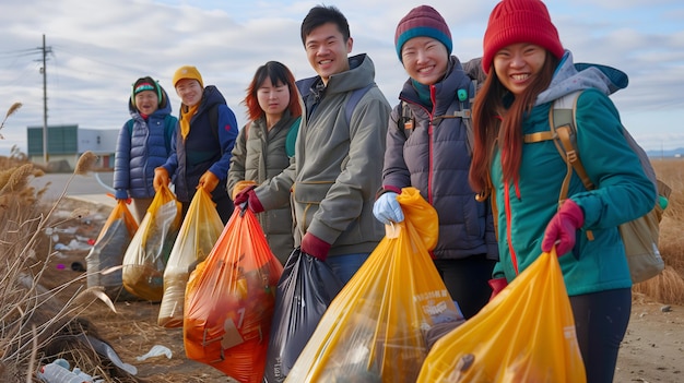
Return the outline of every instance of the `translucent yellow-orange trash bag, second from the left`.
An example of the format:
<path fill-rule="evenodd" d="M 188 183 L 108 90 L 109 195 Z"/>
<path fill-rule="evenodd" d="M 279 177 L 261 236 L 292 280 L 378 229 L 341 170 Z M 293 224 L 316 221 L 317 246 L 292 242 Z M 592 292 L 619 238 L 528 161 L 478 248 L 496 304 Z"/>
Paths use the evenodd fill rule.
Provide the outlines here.
<path fill-rule="evenodd" d="M 164 268 L 180 228 L 180 202 L 163 185 L 123 255 L 123 287 L 134 296 L 153 302 L 162 300 Z"/>

